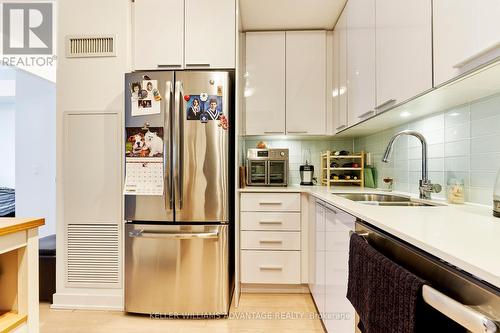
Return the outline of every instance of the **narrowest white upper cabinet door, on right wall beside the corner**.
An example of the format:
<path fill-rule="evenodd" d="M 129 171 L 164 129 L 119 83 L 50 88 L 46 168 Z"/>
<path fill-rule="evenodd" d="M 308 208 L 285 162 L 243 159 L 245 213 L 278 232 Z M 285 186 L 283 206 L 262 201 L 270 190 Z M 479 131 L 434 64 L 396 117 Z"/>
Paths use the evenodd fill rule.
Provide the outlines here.
<path fill-rule="evenodd" d="M 333 31 L 333 131 L 347 127 L 347 20 L 343 12 Z"/>

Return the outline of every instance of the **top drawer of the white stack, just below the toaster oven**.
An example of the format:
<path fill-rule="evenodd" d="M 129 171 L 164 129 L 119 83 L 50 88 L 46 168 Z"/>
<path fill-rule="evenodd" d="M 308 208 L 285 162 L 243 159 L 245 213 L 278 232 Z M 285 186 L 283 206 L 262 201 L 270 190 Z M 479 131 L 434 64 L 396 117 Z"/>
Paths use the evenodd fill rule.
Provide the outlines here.
<path fill-rule="evenodd" d="M 241 211 L 300 212 L 300 193 L 242 193 Z"/>

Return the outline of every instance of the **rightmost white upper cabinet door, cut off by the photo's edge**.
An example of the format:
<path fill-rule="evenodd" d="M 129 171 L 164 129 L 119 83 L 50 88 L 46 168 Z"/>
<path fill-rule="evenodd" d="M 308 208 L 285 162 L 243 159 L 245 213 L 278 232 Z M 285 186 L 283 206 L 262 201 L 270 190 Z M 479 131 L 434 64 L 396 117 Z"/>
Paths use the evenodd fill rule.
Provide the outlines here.
<path fill-rule="evenodd" d="M 434 0 L 434 86 L 500 56 L 500 1 Z"/>

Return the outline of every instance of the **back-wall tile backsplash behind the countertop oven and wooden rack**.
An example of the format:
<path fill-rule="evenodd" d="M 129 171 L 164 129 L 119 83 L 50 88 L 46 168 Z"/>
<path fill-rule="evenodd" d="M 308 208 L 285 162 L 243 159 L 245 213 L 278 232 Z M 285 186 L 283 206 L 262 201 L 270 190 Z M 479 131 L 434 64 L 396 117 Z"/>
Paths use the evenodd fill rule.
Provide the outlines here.
<path fill-rule="evenodd" d="M 247 138 L 245 140 L 245 151 L 248 148 L 255 148 L 259 141 L 264 141 L 268 148 L 288 148 L 289 149 L 289 185 L 297 185 L 300 183 L 299 167 L 305 161 L 303 160 L 303 153 L 309 149 L 311 152 L 310 163 L 314 165 L 314 177 L 318 179 L 320 175 L 320 159 L 321 153 L 326 150 L 348 150 L 353 149 L 352 139 L 338 139 L 338 140 L 318 140 L 318 139 L 265 139 L 256 140 Z"/>

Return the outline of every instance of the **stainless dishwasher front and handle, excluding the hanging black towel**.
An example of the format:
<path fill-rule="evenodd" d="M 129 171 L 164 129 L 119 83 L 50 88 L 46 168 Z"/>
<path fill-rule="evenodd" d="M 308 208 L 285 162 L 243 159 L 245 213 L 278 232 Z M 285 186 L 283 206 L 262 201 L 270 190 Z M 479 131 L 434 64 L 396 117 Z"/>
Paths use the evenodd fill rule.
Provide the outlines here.
<path fill-rule="evenodd" d="M 500 332 L 500 289 L 361 220 L 355 232 L 377 251 L 428 281 L 424 301 L 468 331 Z"/>

